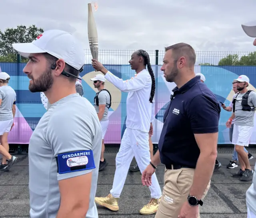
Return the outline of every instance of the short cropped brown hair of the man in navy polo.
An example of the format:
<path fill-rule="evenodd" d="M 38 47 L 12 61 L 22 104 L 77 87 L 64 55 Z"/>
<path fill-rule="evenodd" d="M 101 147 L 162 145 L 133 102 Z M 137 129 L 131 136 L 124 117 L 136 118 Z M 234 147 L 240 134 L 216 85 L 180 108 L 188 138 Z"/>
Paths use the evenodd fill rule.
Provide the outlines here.
<path fill-rule="evenodd" d="M 165 51 L 172 50 L 172 55 L 175 60 L 178 60 L 182 56 L 186 56 L 188 59 L 188 66 L 192 67 L 196 63 L 196 52 L 191 45 L 187 43 L 177 43 L 168 47 L 165 47 Z"/>

